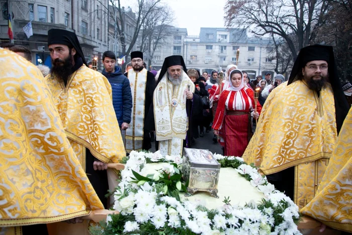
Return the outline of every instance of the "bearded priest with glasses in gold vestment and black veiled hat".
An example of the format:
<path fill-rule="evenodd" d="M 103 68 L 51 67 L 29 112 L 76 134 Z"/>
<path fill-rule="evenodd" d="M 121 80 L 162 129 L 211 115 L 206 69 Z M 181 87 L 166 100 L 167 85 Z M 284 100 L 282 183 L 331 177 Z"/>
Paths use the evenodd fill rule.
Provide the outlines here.
<path fill-rule="evenodd" d="M 348 111 L 332 47 L 302 48 L 282 86 L 263 106 L 243 159 L 303 208 L 316 194 Z"/>

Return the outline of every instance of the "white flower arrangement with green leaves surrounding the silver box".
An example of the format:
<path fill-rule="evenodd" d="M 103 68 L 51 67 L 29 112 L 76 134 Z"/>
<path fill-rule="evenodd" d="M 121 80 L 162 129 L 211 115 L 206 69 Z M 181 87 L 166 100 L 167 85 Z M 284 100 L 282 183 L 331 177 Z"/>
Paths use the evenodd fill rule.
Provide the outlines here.
<path fill-rule="evenodd" d="M 178 169 L 174 165 L 166 165 L 158 173 L 147 176 L 152 184 L 151 181 L 138 181 L 135 177 L 135 173 L 139 174 L 147 162 L 181 163 L 180 156 L 163 157 L 158 152 L 132 151 L 114 193 L 114 209 L 120 214 L 107 217 L 106 223 L 102 223 L 103 233 L 301 234 L 295 223 L 299 219 L 298 206 L 289 197 L 275 190 L 266 177 L 246 165 L 241 158 L 220 154 L 214 154 L 214 158 L 222 165 L 234 167 L 266 199 L 259 204 L 252 201 L 245 206 L 232 206 L 225 199 L 225 205 L 217 210 L 209 210 L 190 201 L 181 202 L 164 190 L 161 181 L 164 174 L 169 177 L 175 174 L 174 178 L 177 178 Z"/>

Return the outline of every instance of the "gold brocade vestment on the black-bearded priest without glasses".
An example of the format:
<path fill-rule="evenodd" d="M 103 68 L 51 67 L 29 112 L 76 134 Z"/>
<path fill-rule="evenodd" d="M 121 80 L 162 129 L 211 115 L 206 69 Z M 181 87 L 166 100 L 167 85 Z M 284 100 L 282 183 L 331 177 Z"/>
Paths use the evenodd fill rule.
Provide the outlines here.
<path fill-rule="evenodd" d="M 126 156 L 106 77 L 84 64 L 66 87 L 47 76 L 54 103 L 66 135 L 85 169 L 85 151 L 104 163 L 118 163 Z"/>

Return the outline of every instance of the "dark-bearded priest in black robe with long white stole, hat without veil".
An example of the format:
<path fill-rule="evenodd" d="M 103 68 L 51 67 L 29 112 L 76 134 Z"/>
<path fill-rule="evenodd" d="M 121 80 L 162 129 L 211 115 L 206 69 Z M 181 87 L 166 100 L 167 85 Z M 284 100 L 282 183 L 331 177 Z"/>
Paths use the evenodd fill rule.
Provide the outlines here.
<path fill-rule="evenodd" d="M 127 152 L 151 148 L 149 130 L 145 128 L 145 117 L 148 115 L 155 89 L 153 73 L 143 67 L 143 52 L 132 51 L 131 63 L 132 68 L 125 73 L 132 92 L 131 122 L 126 129 Z"/>

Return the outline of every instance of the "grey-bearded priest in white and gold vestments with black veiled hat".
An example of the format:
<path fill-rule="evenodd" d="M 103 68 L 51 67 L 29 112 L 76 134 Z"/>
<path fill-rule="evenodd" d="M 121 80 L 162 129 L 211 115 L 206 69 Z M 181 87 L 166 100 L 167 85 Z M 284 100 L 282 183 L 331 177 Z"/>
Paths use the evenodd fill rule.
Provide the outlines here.
<path fill-rule="evenodd" d="M 184 58 L 166 57 L 146 122 L 149 130 L 155 130 L 161 155 L 180 155 L 183 147 L 191 147 L 191 115 L 203 107 L 194 92 L 195 85 L 187 75 Z"/>

